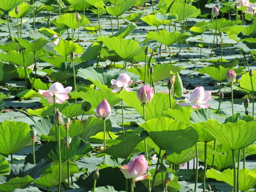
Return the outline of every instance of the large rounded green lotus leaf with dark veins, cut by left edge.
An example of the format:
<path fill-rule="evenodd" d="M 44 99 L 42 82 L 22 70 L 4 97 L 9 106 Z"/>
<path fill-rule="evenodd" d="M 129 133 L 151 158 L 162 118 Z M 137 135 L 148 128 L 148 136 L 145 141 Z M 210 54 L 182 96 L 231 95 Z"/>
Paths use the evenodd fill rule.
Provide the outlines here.
<path fill-rule="evenodd" d="M 31 141 L 30 130 L 27 123 L 3 121 L 0 124 L 0 153 L 11 155 L 25 147 Z"/>

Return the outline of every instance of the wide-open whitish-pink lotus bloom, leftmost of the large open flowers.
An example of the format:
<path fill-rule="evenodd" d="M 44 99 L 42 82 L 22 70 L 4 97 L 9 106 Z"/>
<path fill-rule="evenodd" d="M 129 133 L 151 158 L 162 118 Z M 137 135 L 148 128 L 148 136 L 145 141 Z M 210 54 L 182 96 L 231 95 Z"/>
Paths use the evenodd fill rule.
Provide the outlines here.
<path fill-rule="evenodd" d="M 39 89 L 39 93 L 43 95 L 45 99 L 48 100 L 49 103 L 53 104 L 53 96 L 55 95 L 55 103 L 65 103 L 65 101 L 69 98 L 68 93 L 71 92 L 72 87 L 64 87 L 61 83 L 53 83 L 49 90 L 41 90 Z"/>

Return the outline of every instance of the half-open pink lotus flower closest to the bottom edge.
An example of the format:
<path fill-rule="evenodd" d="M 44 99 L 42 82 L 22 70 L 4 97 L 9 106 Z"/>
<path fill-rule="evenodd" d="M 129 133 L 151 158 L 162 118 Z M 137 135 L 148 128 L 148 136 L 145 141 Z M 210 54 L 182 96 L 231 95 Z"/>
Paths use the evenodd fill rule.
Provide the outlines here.
<path fill-rule="evenodd" d="M 134 178 L 134 181 L 141 181 L 148 177 L 148 174 L 144 175 L 148 167 L 148 161 L 143 155 L 131 160 L 127 165 L 124 164 L 121 167 L 122 173 L 125 178 Z"/>

